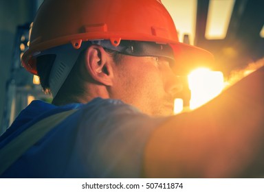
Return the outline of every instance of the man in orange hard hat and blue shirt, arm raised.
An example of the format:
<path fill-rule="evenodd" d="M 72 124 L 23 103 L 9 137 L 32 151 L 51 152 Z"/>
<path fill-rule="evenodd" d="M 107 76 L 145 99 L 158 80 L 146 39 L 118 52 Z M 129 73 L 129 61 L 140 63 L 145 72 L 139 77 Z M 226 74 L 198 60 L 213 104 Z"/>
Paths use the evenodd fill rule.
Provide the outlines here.
<path fill-rule="evenodd" d="M 263 176 L 263 69 L 173 116 L 177 75 L 210 61 L 178 42 L 160 0 L 44 1 L 22 62 L 54 99 L 1 136 L 0 176 Z"/>

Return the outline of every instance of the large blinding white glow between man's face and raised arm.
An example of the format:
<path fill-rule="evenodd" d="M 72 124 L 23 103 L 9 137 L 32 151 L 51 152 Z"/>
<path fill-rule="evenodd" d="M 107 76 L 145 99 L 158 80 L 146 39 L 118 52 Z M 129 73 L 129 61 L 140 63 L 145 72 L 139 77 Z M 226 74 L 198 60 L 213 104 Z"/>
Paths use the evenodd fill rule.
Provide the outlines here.
<path fill-rule="evenodd" d="M 206 104 L 223 90 L 223 73 L 210 69 L 196 69 L 188 75 L 190 109 Z"/>

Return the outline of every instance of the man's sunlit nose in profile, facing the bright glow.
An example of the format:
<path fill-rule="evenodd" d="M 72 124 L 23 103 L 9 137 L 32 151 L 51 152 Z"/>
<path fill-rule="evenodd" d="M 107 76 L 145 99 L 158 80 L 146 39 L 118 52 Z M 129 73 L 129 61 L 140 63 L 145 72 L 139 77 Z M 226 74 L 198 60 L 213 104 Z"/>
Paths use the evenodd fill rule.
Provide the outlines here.
<path fill-rule="evenodd" d="M 179 76 L 175 75 L 171 69 L 168 69 L 164 78 L 164 89 L 166 93 L 175 97 L 177 93 L 182 91 L 183 83 L 181 82 Z"/>

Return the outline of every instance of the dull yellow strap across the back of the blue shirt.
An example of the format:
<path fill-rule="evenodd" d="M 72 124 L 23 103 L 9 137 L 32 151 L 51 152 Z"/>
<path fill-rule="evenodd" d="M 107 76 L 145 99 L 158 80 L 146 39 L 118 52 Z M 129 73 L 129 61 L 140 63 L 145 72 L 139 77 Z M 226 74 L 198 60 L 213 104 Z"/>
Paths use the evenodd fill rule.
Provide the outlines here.
<path fill-rule="evenodd" d="M 10 167 L 22 154 L 32 145 L 39 141 L 47 132 L 52 130 L 58 123 L 61 123 L 77 109 L 59 112 L 50 117 L 46 117 L 35 123 L 30 128 L 22 132 L 5 147 L 0 149 L 0 175 Z"/>

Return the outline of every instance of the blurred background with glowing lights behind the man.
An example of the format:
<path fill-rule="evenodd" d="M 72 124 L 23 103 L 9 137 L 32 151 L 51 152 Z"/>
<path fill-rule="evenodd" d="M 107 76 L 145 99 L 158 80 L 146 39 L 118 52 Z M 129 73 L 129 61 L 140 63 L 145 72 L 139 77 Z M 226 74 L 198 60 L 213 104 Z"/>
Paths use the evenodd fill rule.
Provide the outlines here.
<path fill-rule="evenodd" d="M 27 49 L 30 25 L 42 1 L 0 0 L 0 134 L 32 99 L 51 101 L 41 91 L 38 80 L 20 64 Z M 162 3 L 173 17 L 179 40 L 207 49 L 215 57 L 211 66 L 193 69 L 192 74 L 183 77 L 188 85 L 175 99 L 175 113 L 197 108 L 221 93 L 234 71 L 242 70 L 244 76 L 254 71 L 254 67 L 264 65 L 263 0 L 162 0 Z"/>

